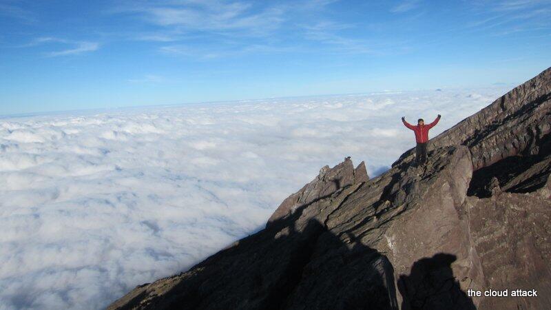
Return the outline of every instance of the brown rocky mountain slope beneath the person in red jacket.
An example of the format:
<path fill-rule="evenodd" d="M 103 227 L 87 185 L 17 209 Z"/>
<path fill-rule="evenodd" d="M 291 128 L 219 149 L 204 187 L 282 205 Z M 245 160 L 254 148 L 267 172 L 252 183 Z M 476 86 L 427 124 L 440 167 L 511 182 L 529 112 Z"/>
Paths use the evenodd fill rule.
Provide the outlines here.
<path fill-rule="evenodd" d="M 551 68 L 430 141 L 425 167 L 324 167 L 266 229 L 109 309 L 548 309 L 550 96 Z"/>

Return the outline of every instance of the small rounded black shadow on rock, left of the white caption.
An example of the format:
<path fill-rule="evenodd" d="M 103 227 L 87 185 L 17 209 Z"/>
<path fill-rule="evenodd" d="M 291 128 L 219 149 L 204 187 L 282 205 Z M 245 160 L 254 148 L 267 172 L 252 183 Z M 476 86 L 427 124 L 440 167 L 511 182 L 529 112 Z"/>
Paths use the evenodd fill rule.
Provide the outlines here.
<path fill-rule="evenodd" d="M 401 275 L 397 283 L 401 309 L 476 309 L 453 276 L 451 264 L 455 260 L 453 254 L 439 253 L 413 263 L 410 275 Z"/>

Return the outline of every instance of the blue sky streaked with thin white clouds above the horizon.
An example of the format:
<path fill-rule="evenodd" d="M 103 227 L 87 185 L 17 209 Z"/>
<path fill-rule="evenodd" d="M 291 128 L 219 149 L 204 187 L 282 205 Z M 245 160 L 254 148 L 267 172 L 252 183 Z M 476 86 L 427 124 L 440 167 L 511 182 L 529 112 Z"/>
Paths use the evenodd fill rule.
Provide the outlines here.
<path fill-rule="evenodd" d="M 0 115 L 436 87 L 551 65 L 551 1 L 0 0 Z"/>

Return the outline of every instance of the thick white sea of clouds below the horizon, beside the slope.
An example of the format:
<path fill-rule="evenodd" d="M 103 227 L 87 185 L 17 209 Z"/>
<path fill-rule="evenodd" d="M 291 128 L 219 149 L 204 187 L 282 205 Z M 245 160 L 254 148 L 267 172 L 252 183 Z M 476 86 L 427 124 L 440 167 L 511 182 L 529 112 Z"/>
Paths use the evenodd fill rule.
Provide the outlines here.
<path fill-rule="evenodd" d="M 101 309 L 257 231 L 324 165 L 368 174 L 504 88 L 0 118 L 0 309 Z"/>

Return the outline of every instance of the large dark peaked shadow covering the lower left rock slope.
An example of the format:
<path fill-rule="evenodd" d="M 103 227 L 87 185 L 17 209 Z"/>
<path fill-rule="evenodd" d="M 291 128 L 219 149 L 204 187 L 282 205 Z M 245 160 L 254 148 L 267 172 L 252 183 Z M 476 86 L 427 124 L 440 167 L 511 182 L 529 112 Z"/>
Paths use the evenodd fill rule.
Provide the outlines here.
<path fill-rule="evenodd" d="M 386 256 L 300 213 L 109 309 L 398 309 Z"/>

